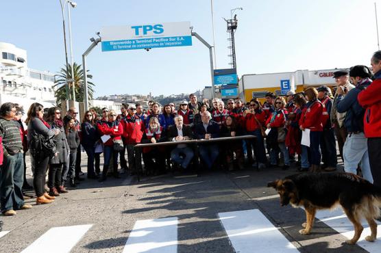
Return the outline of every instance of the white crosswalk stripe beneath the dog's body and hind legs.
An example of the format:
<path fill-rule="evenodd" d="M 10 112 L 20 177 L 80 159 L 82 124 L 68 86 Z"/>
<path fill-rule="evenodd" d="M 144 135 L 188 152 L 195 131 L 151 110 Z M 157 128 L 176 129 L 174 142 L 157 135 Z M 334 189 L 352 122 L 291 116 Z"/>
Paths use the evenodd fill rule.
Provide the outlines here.
<path fill-rule="evenodd" d="M 323 211 L 317 211 L 316 217 L 321 220 L 321 222 L 324 222 L 337 232 L 341 233 L 344 237 L 347 237 L 348 239 L 352 239 L 354 235 L 354 227 L 352 222 L 349 221 L 347 218 L 347 215 L 345 215 L 343 209 L 338 208 L 334 209 L 333 211 L 330 210 L 323 210 Z M 376 221 L 377 222 L 377 221 Z M 380 222 L 377 222 L 378 225 L 380 225 Z M 362 226 L 364 227 L 364 230 L 362 231 L 361 237 L 357 242 L 357 245 L 359 245 L 361 248 L 364 248 L 370 253 L 373 252 L 380 252 L 381 249 L 381 226 L 377 227 L 377 240 L 372 242 L 365 241 L 365 237 L 368 235 L 371 235 L 371 230 L 369 228 L 369 225 L 366 221 L 362 222 Z"/>

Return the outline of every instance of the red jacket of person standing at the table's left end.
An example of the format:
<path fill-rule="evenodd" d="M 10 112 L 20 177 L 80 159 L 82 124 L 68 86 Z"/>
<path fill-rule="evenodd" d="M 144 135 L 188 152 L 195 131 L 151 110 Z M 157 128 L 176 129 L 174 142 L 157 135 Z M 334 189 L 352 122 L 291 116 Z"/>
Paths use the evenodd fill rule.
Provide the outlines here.
<path fill-rule="evenodd" d="M 145 131 L 142 119 L 136 115 L 127 115 L 121 120 L 123 125 L 123 143 L 124 144 L 138 144 L 140 143 L 143 133 Z"/>

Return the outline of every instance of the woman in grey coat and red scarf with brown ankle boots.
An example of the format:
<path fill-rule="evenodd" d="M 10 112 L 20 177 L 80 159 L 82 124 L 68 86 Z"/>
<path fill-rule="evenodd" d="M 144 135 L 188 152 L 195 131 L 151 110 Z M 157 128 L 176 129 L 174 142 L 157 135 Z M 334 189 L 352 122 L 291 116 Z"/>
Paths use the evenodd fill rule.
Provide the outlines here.
<path fill-rule="evenodd" d="M 57 156 L 51 157 L 49 161 L 49 196 L 60 196 L 68 191 L 64 188 L 62 182 L 62 172 L 65 173 L 67 163 L 69 162 L 69 144 L 66 140 L 64 131 L 64 122 L 61 118 L 61 111 L 58 107 L 51 107 L 47 113 L 47 121 L 51 129 L 58 129 L 60 133 L 53 137 L 56 144 Z"/>

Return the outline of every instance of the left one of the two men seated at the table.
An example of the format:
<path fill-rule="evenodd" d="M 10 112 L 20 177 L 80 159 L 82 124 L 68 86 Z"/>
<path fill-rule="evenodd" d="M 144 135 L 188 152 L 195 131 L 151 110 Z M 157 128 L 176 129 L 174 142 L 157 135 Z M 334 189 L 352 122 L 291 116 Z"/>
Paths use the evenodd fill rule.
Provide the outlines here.
<path fill-rule="evenodd" d="M 193 134 L 190 127 L 183 124 L 182 116 L 177 115 L 175 116 L 175 126 L 169 127 L 167 137 L 170 142 L 178 142 L 192 139 Z M 193 150 L 186 144 L 179 144 L 171 151 L 172 161 L 180 164 L 184 169 L 188 167 L 193 155 Z"/>

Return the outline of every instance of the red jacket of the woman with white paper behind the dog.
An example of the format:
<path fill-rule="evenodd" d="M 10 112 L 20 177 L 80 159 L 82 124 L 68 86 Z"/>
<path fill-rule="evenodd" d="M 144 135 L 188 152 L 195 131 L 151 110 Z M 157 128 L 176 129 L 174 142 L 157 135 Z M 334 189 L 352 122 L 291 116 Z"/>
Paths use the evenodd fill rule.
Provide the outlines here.
<path fill-rule="evenodd" d="M 312 132 L 323 131 L 323 124 L 321 123 L 322 114 L 323 105 L 319 101 L 313 102 L 311 105 L 304 107 L 299 120 L 299 126 L 304 129 L 310 129 Z"/>

